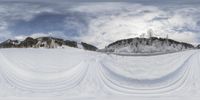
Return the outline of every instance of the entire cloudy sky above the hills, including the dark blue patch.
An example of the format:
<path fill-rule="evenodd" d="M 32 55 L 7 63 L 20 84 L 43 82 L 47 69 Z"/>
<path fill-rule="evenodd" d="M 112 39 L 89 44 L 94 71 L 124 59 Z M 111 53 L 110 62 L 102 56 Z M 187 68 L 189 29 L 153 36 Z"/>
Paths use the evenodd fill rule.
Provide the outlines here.
<path fill-rule="evenodd" d="M 51 35 L 102 48 L 152 29 L 158 37 L 200 43 L 200 0 L 41 1 L 0 0 L 0 41 Z"/>

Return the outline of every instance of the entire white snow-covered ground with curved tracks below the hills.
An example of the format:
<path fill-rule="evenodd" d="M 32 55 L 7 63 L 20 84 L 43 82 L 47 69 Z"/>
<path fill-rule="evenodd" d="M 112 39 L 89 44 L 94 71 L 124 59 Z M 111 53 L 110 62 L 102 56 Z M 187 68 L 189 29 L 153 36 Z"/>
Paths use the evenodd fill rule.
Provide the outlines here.
<path fill-rule="evenodd" d="M 198 100 L 199 76 L 198 50 L 118 56 L 70 47 L 0 49 L 0 100 Z"/>

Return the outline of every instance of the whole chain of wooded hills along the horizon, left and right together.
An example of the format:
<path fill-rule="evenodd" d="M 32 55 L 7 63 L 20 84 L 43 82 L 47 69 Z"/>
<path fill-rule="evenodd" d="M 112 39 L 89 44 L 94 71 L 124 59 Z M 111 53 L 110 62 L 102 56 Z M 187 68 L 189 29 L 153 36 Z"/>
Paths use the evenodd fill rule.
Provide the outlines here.
<path fill-rule="evenodd" d="M 200 46 L 193 46 L 185 42 L 178 42 L 168 38 L 128 38 L 117 40 L 107 45 L 104 49 L 98 49 L 96 46 L 72 40 L 64 40 L 56 37 L 27 37 L 26 39 L 11 40 L 8 39 L 0 43 L 0 48 L 64 48 L 64 46 L 80 48 L 90 51 L 100 51 L 107 53 L 169 53 L 184 51 L 190 49 L 199 49 Z"/>

